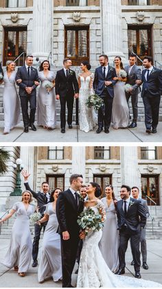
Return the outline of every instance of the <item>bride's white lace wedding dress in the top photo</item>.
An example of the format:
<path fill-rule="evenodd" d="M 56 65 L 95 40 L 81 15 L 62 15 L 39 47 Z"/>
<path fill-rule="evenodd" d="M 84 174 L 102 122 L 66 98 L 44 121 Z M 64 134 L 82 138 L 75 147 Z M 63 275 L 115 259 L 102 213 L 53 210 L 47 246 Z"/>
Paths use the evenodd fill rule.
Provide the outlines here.
<path fill-rule="evenodd" d="M 86 101 L 89 95 L 94 94 L 90 88 L 93 83 L 94 74 L 91 73 L 86 78 L 80 75 L 80 92 L 79 92 L 79 108 L 80 108 L 80 130 L 89 132 L 93 130 L 97 123 L 97 114 L 94 108 L 87 108 Z"/>

